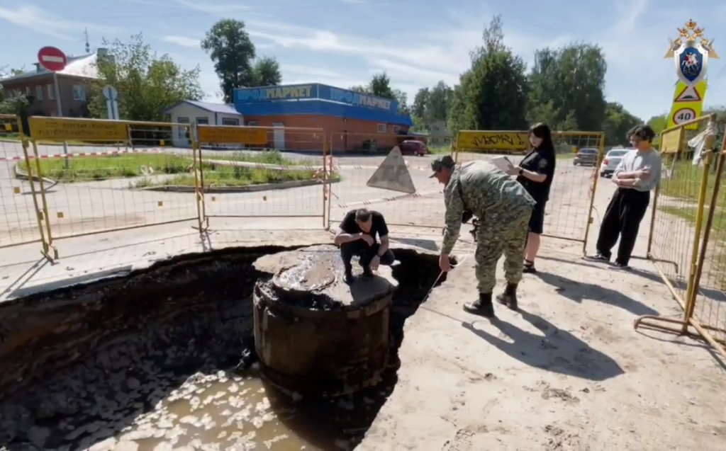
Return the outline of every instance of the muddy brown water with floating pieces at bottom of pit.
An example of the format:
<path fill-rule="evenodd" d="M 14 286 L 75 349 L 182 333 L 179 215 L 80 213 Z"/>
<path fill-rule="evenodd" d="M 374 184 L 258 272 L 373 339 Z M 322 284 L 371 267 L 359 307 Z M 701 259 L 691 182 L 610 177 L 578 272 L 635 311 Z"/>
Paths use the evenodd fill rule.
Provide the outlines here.
<path fill-rule="evenodd" d="M 94 451 L 352 450 L 390 394 L 379 387 L 306 402 L 259 376 L 256 365 L 194 375 Z"/>

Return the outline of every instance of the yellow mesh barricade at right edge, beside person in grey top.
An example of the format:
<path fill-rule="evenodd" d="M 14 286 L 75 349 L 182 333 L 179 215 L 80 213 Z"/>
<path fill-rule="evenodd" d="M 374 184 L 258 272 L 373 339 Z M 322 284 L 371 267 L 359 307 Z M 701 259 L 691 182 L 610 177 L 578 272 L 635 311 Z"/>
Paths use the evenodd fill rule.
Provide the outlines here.
<path fill-rule="evenodd" d="M 726 359 L 726 139 L 715 146 L 716 121 L 707 115 L 661 133 L 664 174 L 653 199 L 648 258 L 684 313 L 642 316 L 635 328 L 693 332 Z M 700 131 L 714 133 L 702 136 L 699 153 L 688 144 L 698 131 L 689 129 L 706 123 Z"/>

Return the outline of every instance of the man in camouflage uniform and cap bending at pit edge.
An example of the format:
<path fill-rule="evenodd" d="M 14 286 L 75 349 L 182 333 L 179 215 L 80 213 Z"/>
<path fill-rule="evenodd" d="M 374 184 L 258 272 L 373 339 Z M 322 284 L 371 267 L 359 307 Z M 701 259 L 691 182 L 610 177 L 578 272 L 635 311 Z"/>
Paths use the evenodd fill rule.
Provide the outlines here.
<path fill-rule="evenodd" d="M 462 224 L 462 213 L 473 213 L 480 224 L 476 233 L 476 280 L 479 299 L 464 305 L 468 313 L 494 316 L 492 291 L 497 284 L 497 262 L 505 256 L 507 287 L 497 302 L 517 308 L 517 285 L 522 279 L 522 255 L 529 231 L 534 199 L 510 175 L 490 162 L 475 161 L 457 166 L 446 155 L 431 162 L 433 175 L 446 185 L 446 228 L 439 266 L 451 270 L 449 254 Z"/>

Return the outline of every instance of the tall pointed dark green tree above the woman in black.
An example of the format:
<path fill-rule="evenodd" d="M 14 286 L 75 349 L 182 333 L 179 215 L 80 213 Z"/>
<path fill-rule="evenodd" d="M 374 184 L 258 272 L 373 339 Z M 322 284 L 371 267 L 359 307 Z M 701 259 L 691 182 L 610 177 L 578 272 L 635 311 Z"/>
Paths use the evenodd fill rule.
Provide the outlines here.
<path fill-rule="evenodd" d="M 526 127 L 526 65 L 504 44 L 502 17 L 494 16 L 471 51 L 471 68 L 454 86 L 449 130 L 518 130 Z"/>

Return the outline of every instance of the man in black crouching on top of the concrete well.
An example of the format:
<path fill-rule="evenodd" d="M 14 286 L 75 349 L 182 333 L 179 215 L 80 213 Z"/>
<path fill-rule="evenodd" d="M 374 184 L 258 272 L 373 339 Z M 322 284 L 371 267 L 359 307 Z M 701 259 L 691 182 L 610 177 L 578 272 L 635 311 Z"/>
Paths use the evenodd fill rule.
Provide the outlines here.
<path fill-rule="evenodd" d="M 351 260 L 354 255 L 360 257 L 363 275 L 369 277 L 378 270 L 379 265 L 391 266 L 396 260 L 388 248 L 388 226 L 383 215 L 364 208 L 346 214 L 335 234 L 335 245 L 340 247 L 340 258 L 343 259 L 348 284 L 353 281 Z"/>

